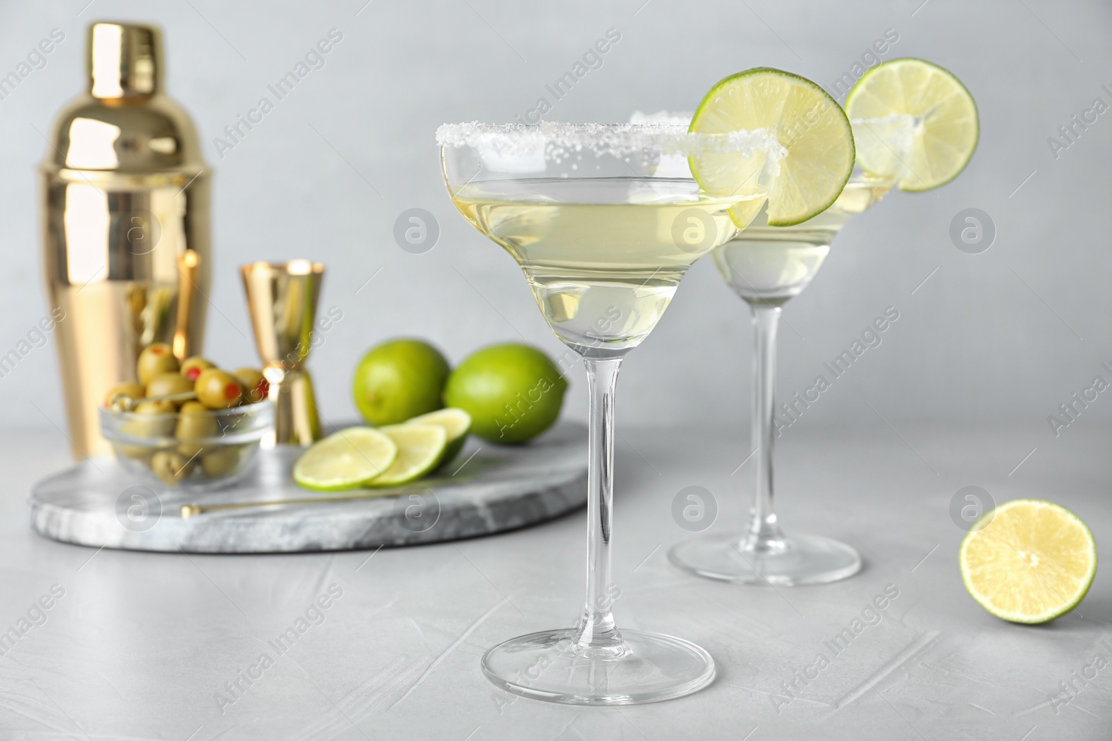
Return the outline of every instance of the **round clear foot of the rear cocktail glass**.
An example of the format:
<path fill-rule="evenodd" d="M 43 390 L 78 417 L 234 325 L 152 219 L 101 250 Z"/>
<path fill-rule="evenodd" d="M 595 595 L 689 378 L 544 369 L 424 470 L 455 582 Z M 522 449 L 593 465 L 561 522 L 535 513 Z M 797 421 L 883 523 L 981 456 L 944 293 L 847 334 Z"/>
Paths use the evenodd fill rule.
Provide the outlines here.
<path fill-rule="evenodd" d="M 825 584 L 861 570 L 850 545 L 820 535 L 792 535 L 778 548 L 743 547 L 744 535 L 711 535 L 674 545 L 668 560 L 684 571 L 738 584 Z"/>

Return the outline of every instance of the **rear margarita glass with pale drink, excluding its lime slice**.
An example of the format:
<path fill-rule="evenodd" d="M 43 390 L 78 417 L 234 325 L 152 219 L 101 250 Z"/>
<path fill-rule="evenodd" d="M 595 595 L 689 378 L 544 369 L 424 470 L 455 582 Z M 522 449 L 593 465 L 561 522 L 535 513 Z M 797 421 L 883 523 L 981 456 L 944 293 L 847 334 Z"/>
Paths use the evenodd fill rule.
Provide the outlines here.
<path fill-rule="evenodd" d="M 851 545 L 821 535 L 786 535 L 773 509 L 773 443 L 776 397 L 776 329 L 781 309 L 815 277 L 831 241 L 852 217 L 862 213 L 895 184 L 855 171 L 828 209 L 792 227 L 770 227 L 757 218 L 717 248 L 714 262 L 753 313 L 756 339 L 753 363 L 752 449 L 756 489 L 748 529 L 743 533 L 704 535 L 679 543 L 668 559 L 701 577 L 742 584 L 823 584 L 861 569 Z M 806 401 L 796 401 L 804 403 Z"/>

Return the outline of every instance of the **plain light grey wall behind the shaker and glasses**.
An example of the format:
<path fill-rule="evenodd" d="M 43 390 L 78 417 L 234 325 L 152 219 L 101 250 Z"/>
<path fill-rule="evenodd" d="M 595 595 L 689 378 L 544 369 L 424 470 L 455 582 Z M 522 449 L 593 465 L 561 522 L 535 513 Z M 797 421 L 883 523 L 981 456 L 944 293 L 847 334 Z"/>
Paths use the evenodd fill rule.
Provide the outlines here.
<path fill-rule="evenodd" d="M 643 1 L 3 3 L 0 71 L 52 28 L 66 40 L 0 101 L 0 352 L 46 311 L 34 166 L 47 144 L 38 131 L 46 133 L 81 88 L 92 20 L 163 27 L 168 90 L 193 116 L 215 168 L 217 310 L 207 354 L 227 364 L 255 360 L 239 263 L 327 263 L 321 306 L 340 307 L 344 319 L 310 367 L 329 418 L 354 413 L 351 369 L 390 337 L 426 337 L 454 362 L 495 341 L 524 339 L 564 352 L 513 261 L 448 201 L 434 142 L 439 123 L 523 114 L 610 28 L 620 41 L 549 119 L 691 110 L 722 77 L 762 64 L 830 84 L 893 28 L 900 39 L 885 59 L 933 60 L 973 92 L 980 148 L 953 183 L 935 193 L 893 193 L 846 227 L 814 284 L 786 308 L 782 397 L 810 385 L 824 361 L 893 306 L 900 319 L 883 343 L 798 425 L 898 430 L 1009 420 L 1037 447 L 1109 420 L 1112 402 L 1102 394 L 1058 440 L 1046 421 L 1112 360 L 1104 218 L 1112 113 L 1058 160 L 1046 143 L 1095 97 L 1112 102 L 1101 90 L 1112 83 L 1106 3 Z M 331 28 L 344 39 L 326 67 L 221 159 L 214 137 Z M 439 243 L 424 254 L 393 239 L 395 219 L 410 208 L 439 220 Z M 966 208 L 995 221 L 995 243 L 982 254 L 951 242 L 951 219 Z M 751 341 L 745 306 L 702 260 L 629 357 L 619 422 L 746 425 Z M 567 413 L 583 417 L 580 368 L 570 381 Z M 52 347 L 0 379 L 0 425 L 64 427 Z"/>

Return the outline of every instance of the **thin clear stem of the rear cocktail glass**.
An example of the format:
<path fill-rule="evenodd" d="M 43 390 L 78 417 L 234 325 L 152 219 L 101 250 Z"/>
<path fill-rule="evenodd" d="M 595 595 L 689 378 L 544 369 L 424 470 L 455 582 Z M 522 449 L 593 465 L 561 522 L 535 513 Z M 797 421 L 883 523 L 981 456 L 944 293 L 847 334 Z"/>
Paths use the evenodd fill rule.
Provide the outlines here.
<path fill-rule="evenodd" d="M 753 310 L 753 411 L 751 444 L 754 447 L 756 488 L 753 494 L 753 519 L 742 548 L 749 551 L 774 551 L 785 547 L 784 533 L 773 509 L 773 450 L 776 441 L 776 330 L 780 328 L 780 306 L 751 303 Z"/>

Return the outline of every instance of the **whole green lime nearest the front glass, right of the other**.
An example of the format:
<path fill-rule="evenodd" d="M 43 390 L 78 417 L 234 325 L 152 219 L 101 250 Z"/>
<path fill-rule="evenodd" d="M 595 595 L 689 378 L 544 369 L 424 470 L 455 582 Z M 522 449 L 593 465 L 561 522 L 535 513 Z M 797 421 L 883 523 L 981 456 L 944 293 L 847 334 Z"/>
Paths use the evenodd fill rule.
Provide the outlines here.
<path fill-rule="evenodd" d="M 527 344 L 483 348 L 448 377 L 444 400 L 471 415 L 471 432 L 502 444 L 537 437 L 556 421 L 567 381 L 548 356 Z"/>

